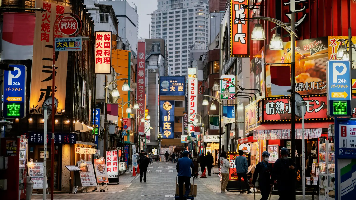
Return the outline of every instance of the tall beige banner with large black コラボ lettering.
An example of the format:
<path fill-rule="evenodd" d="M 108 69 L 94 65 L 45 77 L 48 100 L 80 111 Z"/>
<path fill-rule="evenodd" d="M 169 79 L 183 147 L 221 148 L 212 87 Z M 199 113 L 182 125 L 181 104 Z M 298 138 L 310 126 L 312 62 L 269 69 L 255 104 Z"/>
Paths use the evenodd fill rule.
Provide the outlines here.
<path fill-rule="evenodd" d="M 70 12 L 70 6 L 36 0 L 36 7 L 43 8 L 47 12 L 36 12 L 35 38 L 33 41 L 33 59 L 30 88 L 30 108 L 33 113 L 40 114 L 43 101 L 52 93 L 52 67 L 53 67 L 53 31 L 55 38 L 63 35 L 58 29 L 58 21 L 53 28 L 54 21 L 59 15 Z M 63 16 L 64 17 L 64 16 Z M 56 73 L 54 74 L 54 89 L 58 99 L 57 114 L 61 114 L 66 104 L 68 52 L 56 52 Z M 31 111 L 31 112 L 32 112 Z"/>

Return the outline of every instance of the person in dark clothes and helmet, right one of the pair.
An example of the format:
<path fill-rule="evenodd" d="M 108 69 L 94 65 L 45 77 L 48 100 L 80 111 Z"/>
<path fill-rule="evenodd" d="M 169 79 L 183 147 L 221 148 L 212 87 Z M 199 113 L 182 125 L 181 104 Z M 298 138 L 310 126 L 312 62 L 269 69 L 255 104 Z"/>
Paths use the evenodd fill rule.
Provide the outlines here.
<path fill-rule="evenodd" d="M 274 163 L 272 171 L 271 182 L 277 180 L 279 200 L 295 200 L 297 166 L 291 158 L 288 158 L 288 154 L 288 148 L 281 148 L 281 158 Z"/>

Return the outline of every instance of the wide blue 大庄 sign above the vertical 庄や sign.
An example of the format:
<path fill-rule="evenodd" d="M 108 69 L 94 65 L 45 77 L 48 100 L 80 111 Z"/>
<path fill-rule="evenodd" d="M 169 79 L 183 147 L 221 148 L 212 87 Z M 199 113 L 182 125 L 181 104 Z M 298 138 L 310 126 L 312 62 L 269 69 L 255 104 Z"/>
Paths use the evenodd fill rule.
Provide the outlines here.
<path fill-rule="evenodd" d="M 159 81 L 160 81 L 159 93 L 161 96 L 184 96 L 185 95 L 184 76 L 161 76 Z"/>

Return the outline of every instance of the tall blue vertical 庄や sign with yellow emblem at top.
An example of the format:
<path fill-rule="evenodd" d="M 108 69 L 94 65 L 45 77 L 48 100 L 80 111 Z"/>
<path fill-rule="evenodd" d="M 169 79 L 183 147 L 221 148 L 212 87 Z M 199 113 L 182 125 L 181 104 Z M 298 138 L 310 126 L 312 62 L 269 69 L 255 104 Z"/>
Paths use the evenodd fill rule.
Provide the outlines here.
<path fill-rule="evenodd" d="M 163 139 L 174 139 L 174 101 L 161 101 L 159 131 Z"/>

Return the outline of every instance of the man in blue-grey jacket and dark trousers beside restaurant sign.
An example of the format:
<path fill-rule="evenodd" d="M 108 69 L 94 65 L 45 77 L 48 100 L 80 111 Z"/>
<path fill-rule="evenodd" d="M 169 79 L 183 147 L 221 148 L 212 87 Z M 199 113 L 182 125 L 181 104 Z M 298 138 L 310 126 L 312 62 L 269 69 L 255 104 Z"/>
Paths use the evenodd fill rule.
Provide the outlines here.
<path fill-rule="evenodd" d="M 241 179 L 243 178 L 244 182 L 245 182 L 247 194 L 252 194 L 252 192 L 250 191 L 250 186 L 248 185 L 248 179 L 247 179 L 247 170 L 248 170 L 247 159 L 243 155 L 244 155 L 244 151 L 240 150 L 239 156 L 236 156 L 236 158 L 235 158 L 237 179 L 239 179 L 239 189 L 240 189 L 241 194 L 245 193 L 241 189 L 241 181 L 242 181 Z"/>

